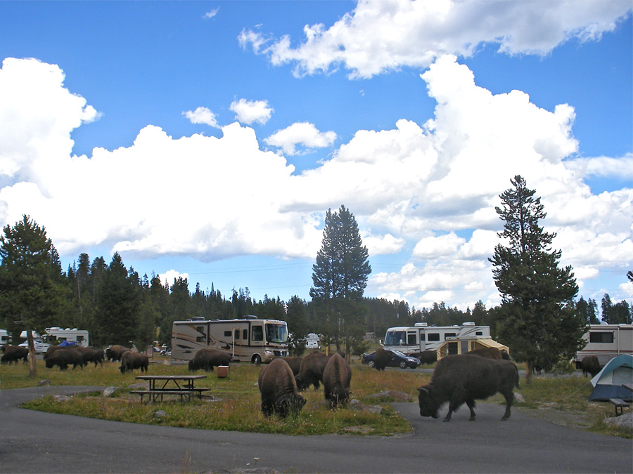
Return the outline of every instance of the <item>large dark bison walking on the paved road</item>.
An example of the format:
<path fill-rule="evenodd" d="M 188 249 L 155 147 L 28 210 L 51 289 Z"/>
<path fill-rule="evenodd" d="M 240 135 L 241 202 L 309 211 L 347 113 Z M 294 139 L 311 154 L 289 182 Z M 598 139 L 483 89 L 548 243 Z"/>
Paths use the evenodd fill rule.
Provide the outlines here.
<path fill-rule="evenodd" d="M 509 360 L 492 360 L 477 355 L 449 355 L 437 362 L 428 386 L 418 388 L 421 416 L 437 418 L 437 411 L 449 402 L 444 421 L 450 421 L 453 412 L 466 403 L 475 419 L 475 400 L 485 400 L 499 392 L 506 399 L 506 412 L 501 420 L 510 418 L 514 400 L 514 387 L 519 378 L 516 365 Z"/>

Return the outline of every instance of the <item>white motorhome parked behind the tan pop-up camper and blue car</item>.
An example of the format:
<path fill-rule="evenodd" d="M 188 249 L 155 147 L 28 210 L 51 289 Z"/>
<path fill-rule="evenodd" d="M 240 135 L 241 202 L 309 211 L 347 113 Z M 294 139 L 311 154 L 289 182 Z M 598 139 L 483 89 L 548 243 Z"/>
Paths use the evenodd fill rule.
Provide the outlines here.
<path fill-rule="evenodd" d="M 416 322 L 412 327 L 387 329 L 383 346 L 409 355 L 437 350 L 448 338 L 490 338 L 490 326 L 475 326 L 474 322 L 464 322 L 461 326 L 428 326 L 426 322 Z"/>

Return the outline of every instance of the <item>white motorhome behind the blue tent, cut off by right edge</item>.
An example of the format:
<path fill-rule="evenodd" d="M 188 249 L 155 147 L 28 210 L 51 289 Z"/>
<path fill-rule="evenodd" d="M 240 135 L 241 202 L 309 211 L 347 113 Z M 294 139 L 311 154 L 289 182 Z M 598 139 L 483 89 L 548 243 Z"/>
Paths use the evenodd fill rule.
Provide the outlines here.
<path fill-rule="evenodd" d="M 577 366 L 589 355 L 604 365 L 620 354 L 633 354 L 633 324 L 590 324 L 582 338 L 587 345 L 574 357 Z"/>

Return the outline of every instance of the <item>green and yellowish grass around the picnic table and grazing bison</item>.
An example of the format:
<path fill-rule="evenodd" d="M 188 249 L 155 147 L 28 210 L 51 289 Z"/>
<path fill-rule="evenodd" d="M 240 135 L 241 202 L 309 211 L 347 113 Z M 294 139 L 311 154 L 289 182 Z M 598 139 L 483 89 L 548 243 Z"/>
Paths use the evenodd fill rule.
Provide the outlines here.
<path fill-rule="evenodd" d="M 158 357 L 151 364 L 150 374 L 188 374 L 186 364 L 170 364 L 169 360 Z M 169 365 L 167 365 L 169 364 Z M 379 405 L 381 413 L 366 412 L 357 409 L 328 409 L 324 403 L 323 389 L 305 390 L 302 393 L 307 403 L 296 418 L 280 419 L 277 416 L 265 418 L 260 411 L 260 393 L 257 389 L 257 376 L 260 367 L 251 364 L 231 364 L 229 376 L 217 378 L 215 372 L 207 372 L 207 378 L 197 381 L 196 387 L 210 388 L 209 400 L 181 402 L 179 397 L 165 402 L 141 403 L 139 395 L 130 394 L 134 386 L 146 387 L 146 382 L 137 381 L 139 373 L 121 374 L 118 363 L 103 364 L 101 367 L 84 367 L 59 371 L 46 369 L 44 362 L 38 360 L 37 376 L 31 378 L 26 364 L 0 366 L 0 388 L 23 388 L 36 386 L 43 379 L 51 385 L 75 385 L 117 387 L 110 397 L 101 393 L 72 397 L 67 402 L 57 402 L 53 397 L 43 397 L 24 405 L 25 408 L 46 412 L 78 414 L 94 418 L 133 423 L 150 423 L 163 426 L 181 426 L 209 430 L 238 430 L 257 433 L 283 433 L 288 435 L 316 434 L 359 434 L 359 435 L 397 435 L 409 433 L 411 426 L 390 406 L 393 399 L 376 401 L 371 395 L 385 390 L 395 390 L 417 401 L 416 388 L 428 383 L 430 374 L 417 371 L 388 369 L 376 371 L 367 366 L 352 363 L 352 399 L 360 404 Z M 198 371 L 198 374 L 205 374 Z M 139 386 L 138 384 L 142 385 Z M 130 387 L 132 386 L 132 388 Z M 602 420 L 613 416 L 610 404 L 588 402 L 592 387 L 588 378 L 572 377 L 536 377 L 528 386 L 521 381 L 517 389 L 523 402 L 516 407 L 528 410 L 531 414 L 563 426 L 592 430 L 608 435 L 633 437 L 631 430 L 604 426 Z M 490 402 L 504 403 L 500 395 L 489 399 Z M 158 410 L 165 416 L 156 417 Z"/>

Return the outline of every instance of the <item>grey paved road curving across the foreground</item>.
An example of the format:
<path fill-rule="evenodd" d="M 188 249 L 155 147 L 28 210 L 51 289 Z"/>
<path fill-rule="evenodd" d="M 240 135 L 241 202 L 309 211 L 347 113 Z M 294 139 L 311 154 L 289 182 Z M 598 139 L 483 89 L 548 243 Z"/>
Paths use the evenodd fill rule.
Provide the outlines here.
<path fill-rule="evenodd" d="M 395 407 L 411 421 L 402 437 L 286 436 L 137 425 L 19 409 L 46 393 L 86 387 L 0 390 L 2 473 L 631 473 L 633 442 L 555 426 L 514 409 L 462 407 L 450 423 Z M 257 458 L 257 459 L 256 459 Z M 265 471 L 261 471 L 265 472 Z"/>

